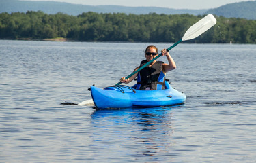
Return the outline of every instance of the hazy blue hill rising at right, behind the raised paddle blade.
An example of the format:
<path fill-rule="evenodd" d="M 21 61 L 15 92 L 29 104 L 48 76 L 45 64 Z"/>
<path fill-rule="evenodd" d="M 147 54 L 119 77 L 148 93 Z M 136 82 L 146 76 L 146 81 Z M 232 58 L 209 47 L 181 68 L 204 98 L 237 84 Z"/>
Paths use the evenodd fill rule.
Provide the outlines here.
<path fill-rule="evenodd" d="M 226 18 L 246 18 L 256 20 L 256 1 L 231 3 L 216 9 L 208 10 L 207 13 L 224 16 Z"/>

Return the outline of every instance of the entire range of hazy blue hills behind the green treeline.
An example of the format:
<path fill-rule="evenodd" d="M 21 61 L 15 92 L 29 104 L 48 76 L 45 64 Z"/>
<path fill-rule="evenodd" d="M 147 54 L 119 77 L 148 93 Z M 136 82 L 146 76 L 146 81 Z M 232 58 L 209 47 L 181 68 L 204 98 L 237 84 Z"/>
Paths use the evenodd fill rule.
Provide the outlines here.
<path fill-rule="evenodd" d="M 246 18 L 256 20 L 256 1 L 244 1 L 230 3 L 214 9 L 188 10 L 171 9 L 165 7 L 125 7 L 117 5 L 76 5 L 72 3 L 61 3 L 55 1 L 20 1 L 0 0 L 0 13 L 42 11 L 46 14 L 57 14 L 62 12 L 77 16 L 83 12 L 97 13 L 125 13 L 125 14 L 215 14 L 226 18 Z"/>

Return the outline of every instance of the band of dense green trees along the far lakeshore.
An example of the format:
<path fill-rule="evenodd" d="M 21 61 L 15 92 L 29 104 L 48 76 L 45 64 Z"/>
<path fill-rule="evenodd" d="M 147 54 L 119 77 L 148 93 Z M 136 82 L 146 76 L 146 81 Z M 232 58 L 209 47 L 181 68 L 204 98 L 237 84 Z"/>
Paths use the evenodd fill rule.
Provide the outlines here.
<path fill-rule="evenodd" d="M 0 14 L 0 39 L 175 42 L 203 16 L 189 14 L 98 14 L 79 16 L 15 12 Z M 256 20 L 217 17 L 217 24 L 191 42 L 256 43 Z"/>

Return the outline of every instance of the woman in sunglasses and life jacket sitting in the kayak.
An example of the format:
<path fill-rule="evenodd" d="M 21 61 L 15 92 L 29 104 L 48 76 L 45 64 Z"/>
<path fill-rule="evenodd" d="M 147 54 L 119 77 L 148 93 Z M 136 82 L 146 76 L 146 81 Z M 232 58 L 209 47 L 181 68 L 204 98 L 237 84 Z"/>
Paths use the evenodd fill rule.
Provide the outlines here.
<path fill-rule="evenodd" d="M 128 84 L 137 77 L 137 90 L 163 90 L 165 89 L 165 74 L 176 68 L 176 64 L 171 58 L 171 55 L 167 49 L 163 49 L 162 56 L 166 56 L 169 64 L 162 61 L 154 60 L 150 65 L 147 65 L 144 69 L 141 69 L 138 73 L 135 73 L 130 78 L 126 79 L 122 77 L 120 82 Z M 158 48 L 156 46 L 147 46 L 145 50 L 145 60 L 141 61 L 141 65 L 136 67 L 134 71 L 137 71 L 140 67 L 147 62 L 158 56 Z"/>

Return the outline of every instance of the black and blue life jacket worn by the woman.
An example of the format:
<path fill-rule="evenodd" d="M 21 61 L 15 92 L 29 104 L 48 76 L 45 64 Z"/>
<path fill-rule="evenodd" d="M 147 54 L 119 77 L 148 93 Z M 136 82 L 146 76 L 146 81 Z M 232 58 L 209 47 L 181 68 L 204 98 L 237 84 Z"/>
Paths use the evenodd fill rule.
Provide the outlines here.
<path fill-rule="evenodd" d="M 141 61 L 140 67 L 145 65 L 147 60 Z M 165 74 L 162 72 L 162 61 L 156 61 L 152 67 L 147 65 L 137 75 L 137 90 L 145 90 L 150 87 L 153 90 L 165 89 Z"/>

